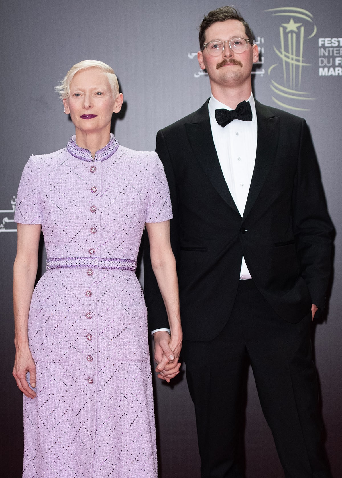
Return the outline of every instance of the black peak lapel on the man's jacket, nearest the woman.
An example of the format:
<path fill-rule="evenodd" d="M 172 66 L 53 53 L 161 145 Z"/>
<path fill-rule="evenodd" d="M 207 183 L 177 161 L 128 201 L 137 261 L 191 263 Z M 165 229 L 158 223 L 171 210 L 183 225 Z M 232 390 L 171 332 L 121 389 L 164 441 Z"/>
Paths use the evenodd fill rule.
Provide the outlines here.
<path fill-rule="evenodd" d="M 226 201 L 228 206 L 239 214 L 218 161 L 213 135 L 211 133 L 208 101 L 205 102 L 202 108 L 196 111 L 191 123 L 185 123 L 186 134 L 194 155 L 201 164 L 211 184 L 215 187 L 222 199 Z"/>

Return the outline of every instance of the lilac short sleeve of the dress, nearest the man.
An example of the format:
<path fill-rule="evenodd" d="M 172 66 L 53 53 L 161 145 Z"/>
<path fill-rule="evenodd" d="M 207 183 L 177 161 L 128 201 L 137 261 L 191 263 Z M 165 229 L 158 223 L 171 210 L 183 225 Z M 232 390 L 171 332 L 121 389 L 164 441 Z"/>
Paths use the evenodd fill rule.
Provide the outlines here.
<path fill-rule="evenodd" d="M 158 154 L 153 153 L 150 161 L 148 208 L 145 222 L 163 222 L 173 217 L 169 185 Z"/>

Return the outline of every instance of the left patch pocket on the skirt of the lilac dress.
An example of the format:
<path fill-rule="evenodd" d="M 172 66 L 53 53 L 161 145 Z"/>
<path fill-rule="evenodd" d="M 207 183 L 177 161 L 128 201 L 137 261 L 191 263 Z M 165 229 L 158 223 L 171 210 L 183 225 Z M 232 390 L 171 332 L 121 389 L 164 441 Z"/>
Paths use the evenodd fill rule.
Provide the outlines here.
<path fill-rule="evenodd" d="M 30 308 L 28 335 L 34 360 L 62 363 L 68 359 L 73 315 L 68 310 Z"/>

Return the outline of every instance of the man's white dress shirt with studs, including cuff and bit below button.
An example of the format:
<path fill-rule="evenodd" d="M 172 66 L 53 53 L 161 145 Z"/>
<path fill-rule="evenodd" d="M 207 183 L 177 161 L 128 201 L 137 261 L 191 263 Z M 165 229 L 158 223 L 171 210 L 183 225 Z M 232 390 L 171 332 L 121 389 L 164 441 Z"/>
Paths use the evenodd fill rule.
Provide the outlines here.
<path fill-rule="evenodd" d="M 232 108 L 218 101 L 213 95 L 211 95 L 208 104 L 210 127 L 218 161 L 230 194 L 233 197 L 241 217 L 243 216 L 248 192 L 250 190 L 258 140 L 258 124 L 252 94 L 247 101 L 249 101 L 251 105 L 252 120 L 233 120 L 224 128 L 217 124 L 215 111 L 216 109 Z M 251 274 L 242 256 L 240 280 L 247 279 L 251 279 Z M 153 335 L 155 332 L 161 330 L 165 330 L 170 334 L 170 329 L 167 328 L 152 330 L 151 333 Z"/>

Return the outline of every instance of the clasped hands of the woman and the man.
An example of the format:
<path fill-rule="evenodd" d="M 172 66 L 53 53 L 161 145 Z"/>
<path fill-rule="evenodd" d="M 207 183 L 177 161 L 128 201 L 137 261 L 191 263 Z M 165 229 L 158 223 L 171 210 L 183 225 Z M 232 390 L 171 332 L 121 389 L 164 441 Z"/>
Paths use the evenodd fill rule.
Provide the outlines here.
<path fill-rule="evenodd" d="M 158 378 L 168 383 L 179 374 L 181 363 L 178 362 L 182 348 L 182 332 L 170 334 L 166 331 L 155 332 L 154 359 L 157 362 Z"/>

